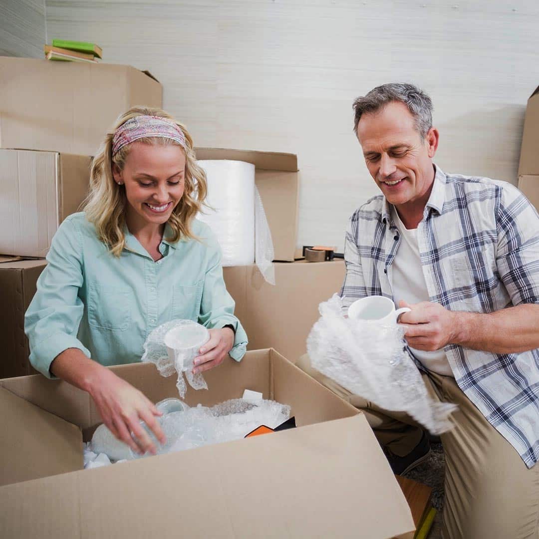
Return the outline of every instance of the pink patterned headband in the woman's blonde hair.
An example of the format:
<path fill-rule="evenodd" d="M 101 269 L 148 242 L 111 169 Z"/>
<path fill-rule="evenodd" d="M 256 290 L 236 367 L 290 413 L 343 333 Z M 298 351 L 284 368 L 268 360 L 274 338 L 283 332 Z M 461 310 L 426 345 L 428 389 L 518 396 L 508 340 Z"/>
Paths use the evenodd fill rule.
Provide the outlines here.
<path fill-rule="evenodd" d="M 116 155 L 126 144 L 153 136 L 174 140 L 186 149 L 182 130 L 171 120 L 161 116 L 135 116 L 116 129 L 112 138 L 112 155 Z"/>

